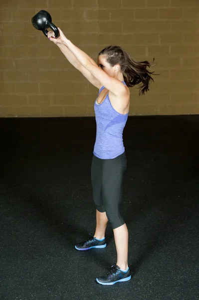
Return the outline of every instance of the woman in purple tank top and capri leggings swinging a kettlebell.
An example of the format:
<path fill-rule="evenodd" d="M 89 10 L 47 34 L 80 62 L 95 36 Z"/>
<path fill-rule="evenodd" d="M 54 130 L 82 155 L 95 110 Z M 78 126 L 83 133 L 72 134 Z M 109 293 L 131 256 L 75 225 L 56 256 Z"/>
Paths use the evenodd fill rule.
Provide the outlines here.
<path fill-rule="evenodd" d="M 58 28 L 59 29 L 59 28 Z M 120 213 L 123 175 L 126 170 L 126 155 L 123 145 L 123 129 L 127 121 L 129 87 L 142 83 L 140 94 L 149 90 L 153 72 L 148 61 L 132 60 L 119 46 L 108 46 L 99 53 L 98 64 L 85 52 L 76 47 L 59 29 L 60 36 L 53 41 L 93 85 L 99 89 L 94 109 L 97 124 L 96 141 L 91 165 L 93 198 L 96 205 L 95 234 L 77 244 L 77 250 L 106 247 L 105 230 L 110 221 L 117 250 L 117 263 L 97 282 L 111 285 L 131 279 L 128 267 L 128 229 Z M 153 79 L 152 79 L 153 80 Z"/>

